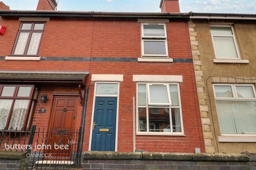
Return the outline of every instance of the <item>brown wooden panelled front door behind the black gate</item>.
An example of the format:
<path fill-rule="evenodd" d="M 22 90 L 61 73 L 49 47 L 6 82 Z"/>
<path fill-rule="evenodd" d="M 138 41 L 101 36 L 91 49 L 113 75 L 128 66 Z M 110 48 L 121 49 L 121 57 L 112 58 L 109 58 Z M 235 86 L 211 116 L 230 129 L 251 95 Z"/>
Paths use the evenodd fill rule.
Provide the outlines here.
<path fill-rule="evenodd" d="M 77 101 L 77 97 L 54 97 L 48 137 L 52 148 L 48 152 L 55 158 L 68 158 L 73 150 L 70 141 L 74 138 Z M 68 148 L 56 149 L 65 145 L 68 145 Z"/>

